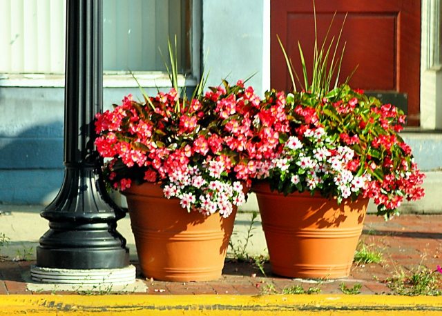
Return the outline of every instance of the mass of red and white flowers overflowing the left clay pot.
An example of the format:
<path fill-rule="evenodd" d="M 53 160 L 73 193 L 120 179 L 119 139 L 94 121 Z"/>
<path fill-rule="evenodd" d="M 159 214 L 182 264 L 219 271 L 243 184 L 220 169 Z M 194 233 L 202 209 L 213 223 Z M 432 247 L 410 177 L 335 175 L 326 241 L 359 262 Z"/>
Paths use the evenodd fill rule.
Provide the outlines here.
<path fill-rule="evenodd" d="M 144 98 L 141 103 L 128 95 L 96 115 L 95 145 L 108 159 L 108 183 L 122 191 L 134 183 L 159 184 L 165 197 L 180 199 L 188 211 L 229 216 L 245 201 L 247 181 L 238 179 L 247 177 L 238 157 L 247 147 L 240 137 L 251 124 L 247 109 L 260 105 L 253 88 L 238 81 L 191 100 L 180 99 L 174 88 Z"/>

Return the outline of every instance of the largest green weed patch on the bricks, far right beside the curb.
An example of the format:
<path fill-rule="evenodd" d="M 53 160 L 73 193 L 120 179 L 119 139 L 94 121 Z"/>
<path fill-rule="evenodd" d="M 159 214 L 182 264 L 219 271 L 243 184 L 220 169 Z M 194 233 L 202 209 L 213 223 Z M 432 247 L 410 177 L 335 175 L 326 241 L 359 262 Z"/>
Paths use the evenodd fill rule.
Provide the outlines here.
<path fill-rule="evenodd" d="M 424 266 L 419 266 L 407 273 L 402 270 L 386 282 L 395 295 L 442 295 L 441 274 Z"/>

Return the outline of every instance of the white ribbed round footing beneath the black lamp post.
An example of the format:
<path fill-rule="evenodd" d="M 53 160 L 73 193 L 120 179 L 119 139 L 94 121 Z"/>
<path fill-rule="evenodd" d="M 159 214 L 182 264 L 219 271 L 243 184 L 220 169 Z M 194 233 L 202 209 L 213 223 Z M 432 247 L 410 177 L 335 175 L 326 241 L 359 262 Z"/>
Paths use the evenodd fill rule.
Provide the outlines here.
<path fill-rule="evenodd" d="M 113 284 L 126 285 L 135 282 L 135 266 L 116 269 L 58 269 L 32 266 L 32 280 L 56 284 Z"/>

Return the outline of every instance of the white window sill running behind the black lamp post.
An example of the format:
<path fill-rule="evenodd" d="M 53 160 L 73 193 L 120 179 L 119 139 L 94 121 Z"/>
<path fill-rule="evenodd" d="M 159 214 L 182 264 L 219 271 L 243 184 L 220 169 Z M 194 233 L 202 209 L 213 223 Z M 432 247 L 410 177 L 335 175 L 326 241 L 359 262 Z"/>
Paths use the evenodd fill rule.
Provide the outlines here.
<path fill-rule="evenodd" d="M 136 73 L 135 78 L 144 88 L 169 88 L 171 81 L 164 72 Z M 194 77 L 178 75 L 179 86 L 196 86 Z M 23 88 L 64 88 L 64 75 L 24 74 L 10 75 L 0 74 L 0 87 L 23 87 Z M 104 88 L 137 88 L 137 81 L 132 75 L 112 74 L 103 76 Z"/>

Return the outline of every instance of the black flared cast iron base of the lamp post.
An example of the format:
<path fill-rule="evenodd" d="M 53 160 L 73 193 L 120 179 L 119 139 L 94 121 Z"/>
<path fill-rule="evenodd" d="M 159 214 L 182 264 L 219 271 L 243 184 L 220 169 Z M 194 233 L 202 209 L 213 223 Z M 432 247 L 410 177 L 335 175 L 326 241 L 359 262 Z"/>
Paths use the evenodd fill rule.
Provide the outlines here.
<path fill-rule="evenodd" d="M 64 185 L 41 216 L 49 228 L 37 247 L 37 266 L 95 269 L 128 266 L 126 240 L 117 232 L 124 217 L 112 201 L 104 201 L 94 168 L 66 168 Z"/>

